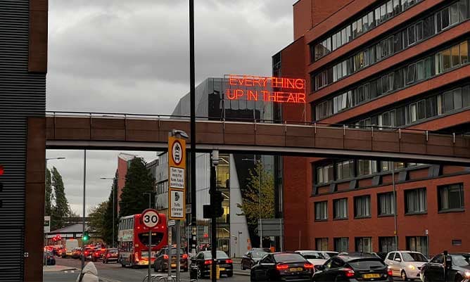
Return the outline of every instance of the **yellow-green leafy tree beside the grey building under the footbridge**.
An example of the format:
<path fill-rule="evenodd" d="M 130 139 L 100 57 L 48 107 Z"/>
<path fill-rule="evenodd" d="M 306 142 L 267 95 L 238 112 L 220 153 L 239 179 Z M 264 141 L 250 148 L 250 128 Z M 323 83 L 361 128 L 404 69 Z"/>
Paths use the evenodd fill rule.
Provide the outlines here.
<path fill-rule="evenodd" d="M 255 228 L 258 226 L 258 219 L 260 218 L 260 180 L 261 217 L 263 219 L 274 218 L 274 177 L 271 172 L 264 169 L 261 162 L 256 162 L 255 167 L 250 169 L 249 174 L 243 203 L 237 204 L 237 207 L 246 216 L 248 225 Z"/>

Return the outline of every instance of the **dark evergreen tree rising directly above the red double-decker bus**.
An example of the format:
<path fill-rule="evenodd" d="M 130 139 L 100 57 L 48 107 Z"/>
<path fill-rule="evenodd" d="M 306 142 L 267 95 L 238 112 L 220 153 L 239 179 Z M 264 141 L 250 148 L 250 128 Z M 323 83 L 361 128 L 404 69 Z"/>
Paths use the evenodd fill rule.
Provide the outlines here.
<path fill-rule="evenodd" d="M 146 169 L 146 162 L 141 158 L 132 159 L 127 169 L 125 186 L 122 188 L 119 216 L 140 214 L 148 208 L 148 195 L 144 193 L 153 191 L 155 179 Z"/>

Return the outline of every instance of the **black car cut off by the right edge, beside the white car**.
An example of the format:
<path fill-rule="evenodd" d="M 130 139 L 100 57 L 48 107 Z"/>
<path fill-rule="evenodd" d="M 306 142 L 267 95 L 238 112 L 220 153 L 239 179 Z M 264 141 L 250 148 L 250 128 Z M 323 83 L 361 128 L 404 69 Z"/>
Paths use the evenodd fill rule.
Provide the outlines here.
<path fill-rule="evenodd" d="M 449 254 L 446 264 L 446 278 L 444 276 L 444 255 L 436 255 L 430 262 L 421 267 L 421 281 L 470 281 L 470 253 Z"/>

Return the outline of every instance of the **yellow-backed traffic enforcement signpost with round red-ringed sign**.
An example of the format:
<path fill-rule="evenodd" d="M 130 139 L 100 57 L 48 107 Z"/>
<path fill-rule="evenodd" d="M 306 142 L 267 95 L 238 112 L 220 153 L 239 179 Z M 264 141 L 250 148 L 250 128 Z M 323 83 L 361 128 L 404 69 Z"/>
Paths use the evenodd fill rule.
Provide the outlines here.
<path fill-rule="evenodd" d="M 186 140 L 187 134 L 180 130 L 173 129 L 168 134 L 168 240 L 174 222 L 176 229 L 176 278 L 179 280 L 179 259 L 181 250 L 180 221 L 186 216 Z M 171 244 L 168 244 L 168 278 L 171 276 L 170 262 L 172 260 Z"/>

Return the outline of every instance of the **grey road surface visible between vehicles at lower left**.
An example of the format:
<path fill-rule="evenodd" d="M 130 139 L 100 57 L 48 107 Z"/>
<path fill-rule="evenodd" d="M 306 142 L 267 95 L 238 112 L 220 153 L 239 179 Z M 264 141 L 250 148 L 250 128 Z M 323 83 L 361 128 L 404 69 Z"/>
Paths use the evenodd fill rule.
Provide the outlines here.
<path fill-rule="evenodd" d="M 76 269 L 80 269 L 81 261 L 80 259 L 62 259 L 56 258 L 56 264 L 64 265 L 67 267 L 75 267 Z M 101 262 L 95 262 L 96 269 L 98 270 L 98 275 L 100 277 L 100 281 L 103 282 L 141 282 L 142 278 L 146 276 L 148 269 L 141 268 L 141 269 L 132 269 L 132 268 L 123 268 L 121 264 L 103 264 Z M 237 267 L 237 266 L 236 266 Z M 248 271 L 236 271 L 236 273 L 246 273 Z M 75 271 L 60 271 L 60 272 L 44 272 L 44 282 L 75 282 L 77 279 L 78 274 L 80 273 L 79 270 Z M 152 274 L 157 274 L 152 269 Z M 222 277 L 220 279 L 221 282 L 241 282 L 241 281 L 249 281 L 250 276 L 234 274 L 233 277 Z M 199 281 L 207 281 L 209 279 L 199 279 Z M 182 282 L 189 282 L 189 272 L 182 272 Z"/>

